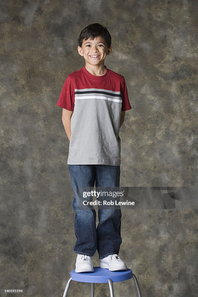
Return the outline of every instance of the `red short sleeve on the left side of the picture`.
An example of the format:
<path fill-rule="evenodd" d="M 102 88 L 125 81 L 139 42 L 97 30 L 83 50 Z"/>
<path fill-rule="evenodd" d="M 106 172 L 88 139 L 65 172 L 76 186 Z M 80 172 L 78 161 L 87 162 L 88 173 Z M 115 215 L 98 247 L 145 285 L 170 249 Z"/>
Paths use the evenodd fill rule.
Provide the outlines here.
<path fill-rule="evenodd" d="M 63 89 L 61 91 L 60 97 L 56 105 L 63 107 L 67 110 L 74 110 L 74 102 L 75 102 L 75 91 L 74 91 L 74 84 L 72 79 L 67 76 Z"/>

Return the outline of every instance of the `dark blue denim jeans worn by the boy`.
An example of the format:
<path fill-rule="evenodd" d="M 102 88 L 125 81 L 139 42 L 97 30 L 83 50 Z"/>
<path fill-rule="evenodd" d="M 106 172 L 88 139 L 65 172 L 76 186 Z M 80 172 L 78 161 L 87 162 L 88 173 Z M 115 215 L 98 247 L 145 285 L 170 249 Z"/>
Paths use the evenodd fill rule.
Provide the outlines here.
<path fill-rule="evenodd" d="M 96 228 L 96 211 L 78 207 L 79 187 L 119 187 L 120 166 L 113 165 L 69 165 L 72 187 L 75 192 L 73 209 L 75 211 L 74 246 L 76 254 L 92 257 L 98 250 L 99 259 L 119 253 L 121 239 L 121 210 L 99 209 L 99 223 Z"/>

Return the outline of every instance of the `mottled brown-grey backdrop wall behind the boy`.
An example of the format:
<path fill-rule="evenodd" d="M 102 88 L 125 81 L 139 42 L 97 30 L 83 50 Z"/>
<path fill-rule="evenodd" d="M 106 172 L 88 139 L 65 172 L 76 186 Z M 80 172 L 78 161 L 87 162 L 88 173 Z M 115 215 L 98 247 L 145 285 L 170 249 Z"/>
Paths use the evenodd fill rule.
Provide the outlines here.
<path fill-rule="evenodd" d="M 62 296 L 75 268 L 69 141 L 56 102 L 66 76 L 84 66 L 77 37 L 88 24 L 110 31 L 105 65 L 125 77 L 132 105 L 120 132 L 121 185 L 197 185 L 197 4 L 1 1 L 2 289 Z M 120 256 L 142 296 L 197 296 L 196 211 L 122 214 Z M 132 281 L 114 288 L 136 296 Z M 89 286 L 72 283 L 69 294 L 89 296 Z M 109 296 L 106 284 L 96 296 Z"/>

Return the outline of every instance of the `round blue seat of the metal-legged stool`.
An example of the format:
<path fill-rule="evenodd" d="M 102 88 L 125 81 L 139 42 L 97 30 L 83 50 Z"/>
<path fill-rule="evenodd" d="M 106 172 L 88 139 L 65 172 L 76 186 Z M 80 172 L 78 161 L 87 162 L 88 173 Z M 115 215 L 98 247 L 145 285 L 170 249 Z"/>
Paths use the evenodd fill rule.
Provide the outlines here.
<path fill-rule="evenodd" d="M 108 279 L 112 282 L 121 282 L 123 280 L 131 279 L 133 273 L 131 269 L 110 271 L 100 267 L 94 267 L 94 272 L 80 272 L 76 273 L 75 270 L 71 271 L 72 280 L 77 282 L 92 282 L 92 283 L 105 283 Z"/>

